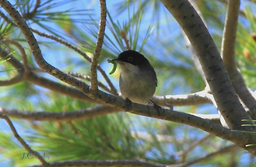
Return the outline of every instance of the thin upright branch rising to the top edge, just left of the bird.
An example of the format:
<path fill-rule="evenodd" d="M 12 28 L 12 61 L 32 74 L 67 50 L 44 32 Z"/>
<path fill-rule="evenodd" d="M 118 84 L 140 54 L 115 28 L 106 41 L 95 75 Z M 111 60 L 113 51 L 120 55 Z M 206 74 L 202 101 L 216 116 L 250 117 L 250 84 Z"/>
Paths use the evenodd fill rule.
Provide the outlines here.
<path fill-rule="evenodd" d="M 106 27 L 106 17 L 107 17 L 107 7 L 106 7 L 106 0 L 100 0 L 100 25 L 99 25 L 99 32 L 97 37 L 97 42 L 95 46 L 95 50 L 92 57 L 91 63 L 91 91 L 92 97 L 96 97 L 98 93 L 98 82 L 97 82 L 97 64 L 100 58 L 100 51 L 103 44 L 103 38 L 105 34 L 105 27 Z"/>

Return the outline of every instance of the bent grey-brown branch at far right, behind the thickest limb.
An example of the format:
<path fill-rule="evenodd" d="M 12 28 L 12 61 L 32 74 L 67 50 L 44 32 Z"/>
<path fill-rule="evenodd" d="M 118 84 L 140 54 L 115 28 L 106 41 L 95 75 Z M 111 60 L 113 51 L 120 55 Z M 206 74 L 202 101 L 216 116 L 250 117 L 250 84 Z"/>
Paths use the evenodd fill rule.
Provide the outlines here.
<path fill-rule="evenodd" d="M 236 67 L 235 46 L 239 7 L 240 0 L 228 1 L 228 10 L 221 45 L 221 57 L 237 95 L 244 102 L 246 107 L 250 109 L 252 119 L 256 119 L 256 99 L 253 97 L 253 92 L 246 86 L 243 76 Z"/>

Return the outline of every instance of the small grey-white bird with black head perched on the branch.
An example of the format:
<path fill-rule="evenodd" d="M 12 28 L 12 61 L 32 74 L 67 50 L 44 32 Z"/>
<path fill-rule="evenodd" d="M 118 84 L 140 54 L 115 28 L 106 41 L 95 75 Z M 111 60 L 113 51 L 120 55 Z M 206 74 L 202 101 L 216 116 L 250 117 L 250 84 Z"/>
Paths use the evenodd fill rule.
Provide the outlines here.
<path fill-rule="evenodd" d="M 123 99 L 146 105 L 157 86 L 156 72 L 148 59 L 139 52 L 127 50 L 115 60 L 120 66 L 119 88 Z"/>

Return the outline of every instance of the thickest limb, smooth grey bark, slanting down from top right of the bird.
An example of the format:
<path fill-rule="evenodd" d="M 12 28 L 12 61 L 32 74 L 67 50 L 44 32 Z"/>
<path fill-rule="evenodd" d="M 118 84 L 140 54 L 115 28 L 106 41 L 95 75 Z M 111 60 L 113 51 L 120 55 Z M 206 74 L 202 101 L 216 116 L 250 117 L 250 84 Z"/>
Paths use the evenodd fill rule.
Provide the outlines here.
<path fill-rule="evenodd" d="M 251 118 L 236 96 L 220 53 L 202 19 L 188 0 L 161 2 L 180 24 L 195 49 L 218 109 L 228 127 L 240 128 L 244 124 L 241 119 Z"/>

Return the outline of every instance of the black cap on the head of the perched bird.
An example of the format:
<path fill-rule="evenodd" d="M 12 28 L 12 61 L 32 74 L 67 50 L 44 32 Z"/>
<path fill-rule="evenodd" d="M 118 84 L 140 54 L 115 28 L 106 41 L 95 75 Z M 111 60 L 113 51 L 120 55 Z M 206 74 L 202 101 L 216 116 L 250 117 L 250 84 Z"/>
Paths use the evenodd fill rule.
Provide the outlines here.
<path fill-rule="evenodd" d="M 120 53 L 116 60 L 127 62 L 134 66 L 148 62 L 148 59 L 146 59 L 142 54 L 133 50 L 127 50 Z"/>

